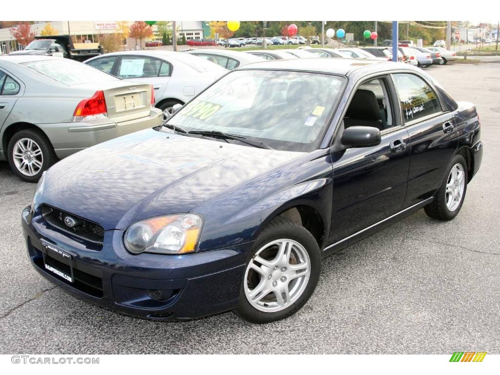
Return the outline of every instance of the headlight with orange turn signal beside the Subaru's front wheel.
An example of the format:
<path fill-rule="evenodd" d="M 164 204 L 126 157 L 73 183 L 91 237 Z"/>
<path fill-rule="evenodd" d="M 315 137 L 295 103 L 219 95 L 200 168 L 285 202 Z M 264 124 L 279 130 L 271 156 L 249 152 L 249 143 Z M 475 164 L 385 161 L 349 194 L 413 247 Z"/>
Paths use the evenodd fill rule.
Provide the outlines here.
<path fill-rule="evenodd" d="M 194 213 L 157 216 L 128 227 L 123 242 L 133 254 L 184 254 L 196 250 L 203 219 Z"/>

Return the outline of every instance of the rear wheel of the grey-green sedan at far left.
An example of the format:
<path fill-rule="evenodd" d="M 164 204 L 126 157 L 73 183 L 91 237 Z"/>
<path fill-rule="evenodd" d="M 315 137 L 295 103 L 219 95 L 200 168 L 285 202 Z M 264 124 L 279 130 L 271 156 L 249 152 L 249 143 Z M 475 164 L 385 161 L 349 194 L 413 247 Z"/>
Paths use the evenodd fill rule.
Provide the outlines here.
<path fill-rule="evenodd" d="M 35 129 L 16 132 L 8 142 L 7 153 L 12 170 L 28 182 L 38 181 L 43 171 L 57 161 L 50 141 Z"/>

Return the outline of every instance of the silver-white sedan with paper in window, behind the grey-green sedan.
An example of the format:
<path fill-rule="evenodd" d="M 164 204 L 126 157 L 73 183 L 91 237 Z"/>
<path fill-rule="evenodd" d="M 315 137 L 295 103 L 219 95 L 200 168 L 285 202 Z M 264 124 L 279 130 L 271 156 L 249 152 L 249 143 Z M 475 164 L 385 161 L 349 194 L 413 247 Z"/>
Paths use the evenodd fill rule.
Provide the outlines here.
<path fill-rule="evenodd" d="M 227 71 L 199 57 L 164 50 L 111 52 L 84 63 L 118 78 L 152 84 L 154 106 L 165 118 L 175 104 L 188 102 Z"/>

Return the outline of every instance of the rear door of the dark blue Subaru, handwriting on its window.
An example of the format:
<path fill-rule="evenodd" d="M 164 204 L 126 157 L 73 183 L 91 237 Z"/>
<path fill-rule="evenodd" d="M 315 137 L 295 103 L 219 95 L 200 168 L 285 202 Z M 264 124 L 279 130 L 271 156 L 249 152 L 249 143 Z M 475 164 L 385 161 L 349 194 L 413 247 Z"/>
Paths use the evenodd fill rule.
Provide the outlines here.
<path fill-rule="evenodd" d="M 429 198 L 458 146 L 453 113 L 432 85 L 416 73 L 392 74 L 411 152 L 405 206 Z"/>

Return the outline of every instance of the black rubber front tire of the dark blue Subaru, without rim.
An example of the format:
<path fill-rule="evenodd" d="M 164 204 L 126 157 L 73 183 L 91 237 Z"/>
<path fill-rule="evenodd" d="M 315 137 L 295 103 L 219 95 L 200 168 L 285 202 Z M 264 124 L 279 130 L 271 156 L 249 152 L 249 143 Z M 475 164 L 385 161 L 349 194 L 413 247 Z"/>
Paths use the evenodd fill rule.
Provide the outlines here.
<path fill-rule="evenodd" d="M 284 319 L 294 314 L 304 305 L 305 302 L 307 302 L 319 279 L 321 269 L 321 253 L 316 240 L 303 226 L 297 225 L 284 217 L 276 217 L 262 230 L 248 254 L 246 265 L 248 265 L 248 262 L 262 246 L 273 240 L 282 238 L 291 239 L 300 243 L 307 251 L 310 261 L 309 279 L 307 280 L 305 288 L 298 298 L 288 307 L 276 312 L 260 311 L 253 307 L 246 298 L 244 292 L 245 280 L 242 279 L 239 289 L 239 304 L 233 311 L 238 316 L 252 323 L 269 323 L 271 321 Z M 243 275 L 242 277 L 244 278 L 245 276 Z"/>

